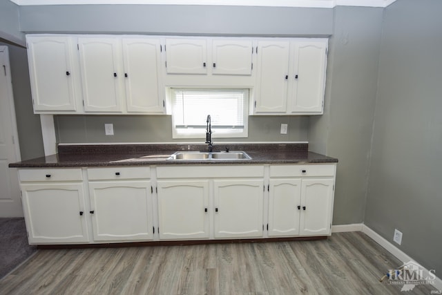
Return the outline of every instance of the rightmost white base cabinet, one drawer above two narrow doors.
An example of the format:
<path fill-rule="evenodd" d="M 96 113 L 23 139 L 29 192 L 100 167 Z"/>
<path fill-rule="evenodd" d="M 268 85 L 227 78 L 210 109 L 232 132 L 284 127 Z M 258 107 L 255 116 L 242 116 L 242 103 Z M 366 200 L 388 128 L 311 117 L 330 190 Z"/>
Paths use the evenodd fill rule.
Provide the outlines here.
<path fill-rule="evenodd" d="M 331 234 L 335 164 L 272 165 L 269 236 Z"/>

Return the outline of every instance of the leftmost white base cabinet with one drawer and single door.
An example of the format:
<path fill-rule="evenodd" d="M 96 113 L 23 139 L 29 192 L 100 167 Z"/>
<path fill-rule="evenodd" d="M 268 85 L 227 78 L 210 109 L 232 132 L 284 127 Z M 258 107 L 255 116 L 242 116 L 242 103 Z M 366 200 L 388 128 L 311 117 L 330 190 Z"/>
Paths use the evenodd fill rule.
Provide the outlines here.
<path fill-rule="evenodd" d="M 81 169 L 19 169 L 30 244 L 88 242 Z"/>

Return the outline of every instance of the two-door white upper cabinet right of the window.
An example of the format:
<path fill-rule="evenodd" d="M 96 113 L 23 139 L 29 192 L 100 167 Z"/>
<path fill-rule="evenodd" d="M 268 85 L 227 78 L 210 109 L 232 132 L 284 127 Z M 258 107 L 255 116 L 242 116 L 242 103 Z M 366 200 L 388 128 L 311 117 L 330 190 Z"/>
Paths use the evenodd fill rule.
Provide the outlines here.
<path fill-rule="evenodd" d="M 258 41 L 252 115 L 323 113 L 327 39 Z"/>

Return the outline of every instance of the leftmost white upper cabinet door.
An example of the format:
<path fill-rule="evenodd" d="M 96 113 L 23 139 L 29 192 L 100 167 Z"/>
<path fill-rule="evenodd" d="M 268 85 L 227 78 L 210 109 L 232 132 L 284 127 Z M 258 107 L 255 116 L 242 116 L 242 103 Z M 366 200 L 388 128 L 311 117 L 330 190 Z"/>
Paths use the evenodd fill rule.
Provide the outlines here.
<path fill-rule="evenodd" d="M 28 37 L 27 43 L 34 111 L 76 111 L 81 90 L 72 39 Z"/>

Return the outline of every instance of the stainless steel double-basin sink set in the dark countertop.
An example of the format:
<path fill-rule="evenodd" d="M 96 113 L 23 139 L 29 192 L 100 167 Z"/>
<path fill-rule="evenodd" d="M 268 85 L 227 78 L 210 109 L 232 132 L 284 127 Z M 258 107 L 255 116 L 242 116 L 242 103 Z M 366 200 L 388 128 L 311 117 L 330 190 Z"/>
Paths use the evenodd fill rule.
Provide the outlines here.
<path fill-rule="evenodd" d="M 177 151 L 173 153 L 167 160 L 251 160 L 251 157 L 244 151 L 221 151 L 221 152 L 200 152 L 200 151 Z"/>

